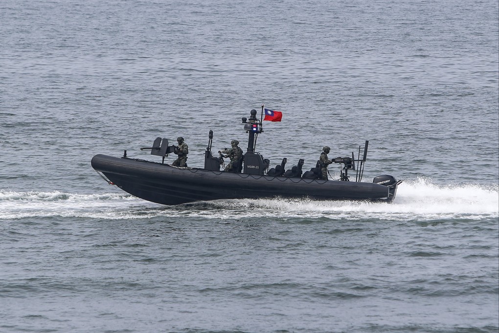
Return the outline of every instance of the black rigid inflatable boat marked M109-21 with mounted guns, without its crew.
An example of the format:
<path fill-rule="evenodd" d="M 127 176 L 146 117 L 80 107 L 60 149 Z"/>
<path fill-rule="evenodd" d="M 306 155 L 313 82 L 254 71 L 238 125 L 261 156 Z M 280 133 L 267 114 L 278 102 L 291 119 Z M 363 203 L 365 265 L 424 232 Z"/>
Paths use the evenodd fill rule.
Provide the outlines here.
<path fill-rule="evenodd" d="M 269 160 L 255 151 L 255 138 L 262 130 L 262 119 L 251 110 L 250 118 L 242 118 L 249 133 L 248 149 L 233 172 L 221 171 L 223 157 L 214 157 L 211 151 L 213 131 L 205 151 L 205 167 L 176 167 L 166 164 L 165 157 L 174 152 L 175 146 L 167 139 L 156 138 L 152 155 L 161 156 L 161 163 L 127 157 L 95 155 L 92 167 L 109 183 L 138 198 L 164 205 L 179 205 L 195 201 L 217 199 L 257 198 L 309 198 L 315 200 L 368 200 L 392 202 L 397 193 L 397 181 L 390 175 L 375 177 L 373 182 L 362 182 L 368 141 L 363 156 L 360 147 L 357 159 L 350 157 L 332 159 L 341 164 L 340 180 L 320 179 L 318 163 L 310 171 L 302 172 L 303 160 L 285 170 L 286 159 L 269 169 Z M 355 172 L 349 176 L 348 172 Z M 355 177 L 355 180 L 353 178 Z M 352 179 L 350 179 L 352 178 Z"/>

